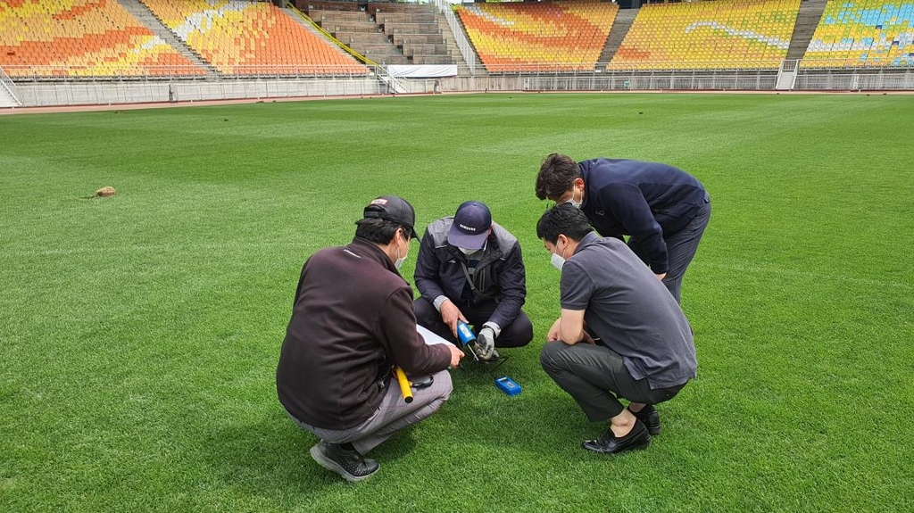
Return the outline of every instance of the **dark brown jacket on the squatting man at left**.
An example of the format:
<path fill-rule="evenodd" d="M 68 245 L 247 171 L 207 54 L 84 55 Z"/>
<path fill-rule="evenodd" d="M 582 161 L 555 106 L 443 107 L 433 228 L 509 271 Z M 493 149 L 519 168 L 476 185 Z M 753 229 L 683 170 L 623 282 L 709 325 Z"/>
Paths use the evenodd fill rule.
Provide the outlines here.
<path fill-rule="evenodd" d="M 406 372 L 441 371 L 443 345 L 416 331 L 412 288 L 375 244 L 315 253 L 302 269 L 282 341 L 276 390 L 293 417 L 324 429 L 349 429 L 377 410 L 391 363 Z M 396 383 L 393 383 L 396 386 Z"/>

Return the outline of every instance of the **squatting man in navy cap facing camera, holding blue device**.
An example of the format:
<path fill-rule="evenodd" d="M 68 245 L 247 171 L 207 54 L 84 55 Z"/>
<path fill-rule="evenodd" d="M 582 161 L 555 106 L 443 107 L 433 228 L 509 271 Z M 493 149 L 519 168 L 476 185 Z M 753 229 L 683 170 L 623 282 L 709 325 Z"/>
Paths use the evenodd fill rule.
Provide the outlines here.
<path fill-rule="evenodd" d="M 426 228 L 414 278 L 422 295 L 413 303 L 420 325 L 455 345 L 458 319 L 473 325 L 480 359 L 497 358 L 496 346 L 533 340 L 533 324 L 521 310 L 526 271 L 520 244 L 492 222 L 484 204 L 466 202 Z"/>

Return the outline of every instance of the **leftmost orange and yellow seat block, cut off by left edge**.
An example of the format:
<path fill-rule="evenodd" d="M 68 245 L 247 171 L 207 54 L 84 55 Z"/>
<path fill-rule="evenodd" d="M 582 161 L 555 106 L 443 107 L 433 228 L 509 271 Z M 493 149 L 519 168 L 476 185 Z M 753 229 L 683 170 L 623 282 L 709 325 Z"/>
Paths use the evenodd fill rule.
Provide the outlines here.
<path fill-rule="evenodd" d="M 13 78 L 206 74 L 115 0 L 0 1 L 0 66 Z"/>

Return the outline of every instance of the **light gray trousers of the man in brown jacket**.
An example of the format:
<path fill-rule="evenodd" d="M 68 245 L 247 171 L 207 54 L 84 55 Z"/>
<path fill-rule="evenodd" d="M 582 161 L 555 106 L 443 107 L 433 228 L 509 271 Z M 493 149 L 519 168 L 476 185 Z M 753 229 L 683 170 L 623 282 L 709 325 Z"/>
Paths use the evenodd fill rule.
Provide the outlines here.
<path fill-rule="evenodd" d="M 396 378 L 391 378 L 381 405 L 362 424 L 349 429 L 324 429 L 292 417 L 292 421 L 305 431 L 316 434 L 330 444 L 352 444 L 360 455 L 377 447 L 391 435 L 410 424 L 427 418 L 451 396 L 453 386 L 447 371 L 432 374 L 434 382 L 428 388 L 412 390 L 412 403 L 403 400 Z"/>

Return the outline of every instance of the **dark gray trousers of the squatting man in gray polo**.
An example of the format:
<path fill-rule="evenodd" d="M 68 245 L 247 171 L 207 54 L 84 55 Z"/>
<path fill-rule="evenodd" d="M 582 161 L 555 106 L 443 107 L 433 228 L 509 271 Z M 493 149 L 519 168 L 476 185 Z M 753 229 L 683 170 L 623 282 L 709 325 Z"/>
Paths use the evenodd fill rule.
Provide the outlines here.
<path fill-rule="evenodd" d="M 618 398 L 632 403 L 663 403 L 685 386 L 652 390 L 646 379 L 632 378 L 619 353 L 586 342 L 573 346 L 547 342 L 539 362 L 552 381 L 578 402 L 590 422 L 604 422 L 621 414 L 625 406 Z"/>

